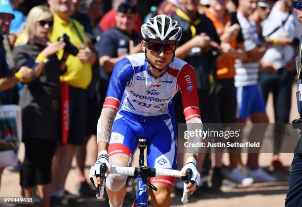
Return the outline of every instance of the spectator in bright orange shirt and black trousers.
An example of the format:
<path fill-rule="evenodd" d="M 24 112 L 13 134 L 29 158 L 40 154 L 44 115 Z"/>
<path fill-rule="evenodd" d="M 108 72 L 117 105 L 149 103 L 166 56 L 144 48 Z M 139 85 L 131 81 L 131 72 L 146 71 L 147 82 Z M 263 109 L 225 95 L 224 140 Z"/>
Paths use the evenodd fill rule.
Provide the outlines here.
<path fill-rule="evenodd" d="M 236 12 L 228 13 L 229 0 L 210 0 L 210 7 L 205 10 L 220 36 L 222 55 L 217 59 L 216 90 L 219 103 L 219 116 L 222 123 L 236 123 L 236 93 L 234 85 L 235 59 L 245 59 L 243 51 L 243 37 L 239 33 L 240 26 L 234 20 Z M 222 174 L 223 153 L 212 153 L 212 188 L 220 190 L 223 181 Z M 230 158 L 232 154 L 230 154 Z M 242 182 L 242 178 L 234 177 L 235 182 Z"/>

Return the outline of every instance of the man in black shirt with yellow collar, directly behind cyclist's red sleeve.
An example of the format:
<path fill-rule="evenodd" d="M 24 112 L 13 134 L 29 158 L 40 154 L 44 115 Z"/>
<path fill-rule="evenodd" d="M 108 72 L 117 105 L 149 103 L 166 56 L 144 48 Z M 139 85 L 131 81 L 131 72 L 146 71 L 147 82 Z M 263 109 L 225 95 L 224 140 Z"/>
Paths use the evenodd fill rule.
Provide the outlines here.
<path fill-rule="evenodd" d="M 220 123 L 218 100 L 214 93 L 216 80 L 216 58 L 219 54 L 220 39 L 212 21 L 204 14 L 198 13 L 199 0 L 178 0 L 181 7 L 172 16 L 182 28 L 183 35 L 178 43 L 175 56 L 188 62 L 196 74 L 196 87 L 199 97 L 199 108 L 203 123 Z M 174 108 L 177 123 L 185 123 L 181 112 L 183 105 L 181 94 L 174 98 Z M 197 160 L 197 170 L 201 172 L 205 153 Z M 178 159 L 182 162 L 181 159 Z M 183 165 L 183 163 L 179 163 Z M 202 184 L 199 183 L 200 187 Z M 176 184 L 178 187 L 179 184 Z"/>

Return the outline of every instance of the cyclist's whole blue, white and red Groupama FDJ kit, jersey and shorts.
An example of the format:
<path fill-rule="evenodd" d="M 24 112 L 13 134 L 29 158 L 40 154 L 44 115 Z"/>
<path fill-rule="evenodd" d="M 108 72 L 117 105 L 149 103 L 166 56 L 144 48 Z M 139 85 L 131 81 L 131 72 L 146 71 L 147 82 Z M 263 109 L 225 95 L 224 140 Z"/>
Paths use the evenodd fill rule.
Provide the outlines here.
<path fill-rule="evenodd" d="M 176 123 L 169 103 L 182 92 L 186 120 L 200 118 L 194 69 L 174 58 L 165 72 L 154 78 L 145 53 L 118 61 L 113 69 L 103 108 L 118 111 L 112 128 L 108 155 L 132 157 L 138 138 L 147 140 L 147 162 L 152 168 L 176 169 Z M 173 186 L 174 177 L 156 177 L 151 182 Z"/>

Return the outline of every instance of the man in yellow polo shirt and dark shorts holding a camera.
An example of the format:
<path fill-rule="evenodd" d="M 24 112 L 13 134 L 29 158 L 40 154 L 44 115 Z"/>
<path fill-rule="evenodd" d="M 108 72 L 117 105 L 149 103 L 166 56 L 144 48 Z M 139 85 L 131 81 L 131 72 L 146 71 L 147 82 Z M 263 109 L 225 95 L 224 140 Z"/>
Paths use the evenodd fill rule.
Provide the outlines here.
<path fill-rule="evenodd" d="M 53 164 L 52 198 L 61 202 L 71 194 L 64 190 L 67 174 L 71 168 L 76 146 L 84 143 L 87 123 L 87 88 L 91 82 L 91 66 L 96 62 L 96 55 L 87 47 L 86 36 L 82 26 L 71 18 L 71 0 L 48 0 L 50 10 L 53 13 L 54 25 L 49 39 L 57 41 L 64 34 L 68 35 L 69 43 L 77 47 L 78 53 L 68 56 L 66 60 L 66 72 L 61 76 L 64 91 L 69 96 L 64 96 L 63 101 L 68 107 L 64 112 L 69 113 L 64 117 L 64 126 L 68 125 L 69 131 L 64 137 L 64 146 L 59 146 L 55 153 Z M 65 47 L 65 50 L 69 48 Z M 73 49 L 74 50 L 74 49 Z M 75 52 L 75 51 L 72 51 Z M 77 52 L 77 51 L 76 51 Z M 62 57 L 59 51 L 59 59 Z M 70 52 L 71 53 L 71 52 Z M 64 104 L 64 107 L 66 106 Z M 66 118 L 66 119 L 65 119 Z"/>

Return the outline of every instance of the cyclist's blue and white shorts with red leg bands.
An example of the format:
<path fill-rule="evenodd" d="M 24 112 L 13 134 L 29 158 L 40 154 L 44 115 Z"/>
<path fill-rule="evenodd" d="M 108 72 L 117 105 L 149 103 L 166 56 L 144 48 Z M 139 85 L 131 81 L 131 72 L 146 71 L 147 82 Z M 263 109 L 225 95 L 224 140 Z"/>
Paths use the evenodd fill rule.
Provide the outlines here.
<path fill-rule="evenodd" d="M 110 157 L 122 153 L 132 157 L 138 139 L 145 138 L 148 166 L 175 170 L 177 167 L 176 135 L 175 118 L 169 114 L 142 116 L 121 110 L 113 123 L 108 155 Z M 150 181 L 173 187 L 175 177 L 153 177 Z"/>

